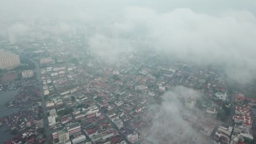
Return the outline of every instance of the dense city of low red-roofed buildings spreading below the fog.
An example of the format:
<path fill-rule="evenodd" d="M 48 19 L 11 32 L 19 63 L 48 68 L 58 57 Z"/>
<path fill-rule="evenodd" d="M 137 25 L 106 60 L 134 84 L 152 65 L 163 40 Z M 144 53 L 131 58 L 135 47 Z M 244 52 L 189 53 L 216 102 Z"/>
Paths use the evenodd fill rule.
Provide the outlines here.
<path fill-rule="evenodd" d="M 214 67 L 147 50 L 108 63 L 79 28 L 1 43 L 0 93 L 18 91 L 5 106 L 19 108 L 0 118 L 5 144 L 254 143 L 256 99 Z"/>

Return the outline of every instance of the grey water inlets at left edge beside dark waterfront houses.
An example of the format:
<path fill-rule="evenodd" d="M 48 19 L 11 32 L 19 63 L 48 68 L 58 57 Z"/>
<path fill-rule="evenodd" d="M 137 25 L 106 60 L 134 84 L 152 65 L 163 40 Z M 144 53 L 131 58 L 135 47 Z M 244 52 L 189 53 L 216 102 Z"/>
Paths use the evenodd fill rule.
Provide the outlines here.
<path fill-rule="evenodd" d="M 20 108 L 8 108 L 5 107 L 5 103 L 14 99 L 14 96 L 19 92 L 17 89 L 16 91 L 5 91 L 0 92 L 0 117 L 5 117 L 10 115 L 12 112 L 18 112 Z M 3 141 L 12 139 L 13 135 L 10 132 L 5 132 L 6 128 L 4 126 L 0 127 L 0 143 Z"/>

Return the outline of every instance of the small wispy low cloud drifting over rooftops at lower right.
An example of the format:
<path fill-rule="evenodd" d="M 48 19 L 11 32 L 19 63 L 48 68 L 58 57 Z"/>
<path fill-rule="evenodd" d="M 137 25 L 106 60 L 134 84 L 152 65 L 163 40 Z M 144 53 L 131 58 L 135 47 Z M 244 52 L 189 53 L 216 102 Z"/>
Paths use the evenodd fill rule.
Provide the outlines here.
<path fill-rule="evenodd" d="M 164 94 L 165 100 L 159 107 L 152 106 L 149 115 L 152 117 L 152 126 L 145 131 L 145 140 L 160 144 L 164 140 L 172 139 L 172 142 L 184 143 L 190 137 L 199 137 L 199 132 L 195 131 L 184 117 L 194 117 L 191 112 L 184 108 L 184 104 L 179 100 L 181 97 L 199 97 L 199 94 L 189 88 L 182 86 L 174 88 Z M 194 117 L 195 118 L 195 117 Z M 192 119 L 191 119 L 192 120 Z"/>

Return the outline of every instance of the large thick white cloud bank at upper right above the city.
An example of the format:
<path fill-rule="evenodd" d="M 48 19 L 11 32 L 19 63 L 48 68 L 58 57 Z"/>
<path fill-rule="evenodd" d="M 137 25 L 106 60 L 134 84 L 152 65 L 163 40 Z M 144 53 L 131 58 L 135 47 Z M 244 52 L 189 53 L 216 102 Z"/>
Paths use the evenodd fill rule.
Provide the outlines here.
<path fill-rule="evenodd" d="M 120 32 L 135 33 L 137 40 L 143 37 L 139 43 L 148 43 L 157 52 L 186 62 L 222 66 L 229 78 L 240 82 L 254 76 L 256 18 L 249 11 L 210 15 L 189 8 L 159 13 L 128 7 L 117 23 Z"/>

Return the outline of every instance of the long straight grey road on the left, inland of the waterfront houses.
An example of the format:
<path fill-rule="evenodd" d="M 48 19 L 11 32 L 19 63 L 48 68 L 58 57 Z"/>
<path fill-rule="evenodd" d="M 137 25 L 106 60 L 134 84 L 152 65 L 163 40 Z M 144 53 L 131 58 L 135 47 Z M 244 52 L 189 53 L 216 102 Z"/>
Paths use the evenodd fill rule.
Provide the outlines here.
<path fill-rule="evenodd" d="M 40 91 L 41 91 L 41 102 L 42 102 L 42 108 L 43 108 L 43 127 L 45 129 L 45 136 L 47 139 L 47 144 L 52 144 L 51 132 L 50 132 L 49 125 L 48 125 L 47 108 L 45 105 L 45 98 L 44 98 L 44 93 L 43 93 L 43 85 L 41 82 L 40 67 L 39 67 L 39 64 L 37 63 L 37 61 L 34 61 L 33 59 L 29 59 L 29 60 L 35 64 L 36 77 L 37 77 L 37 81 L 39 83 L 39 87 L 40 87 Z"/>

